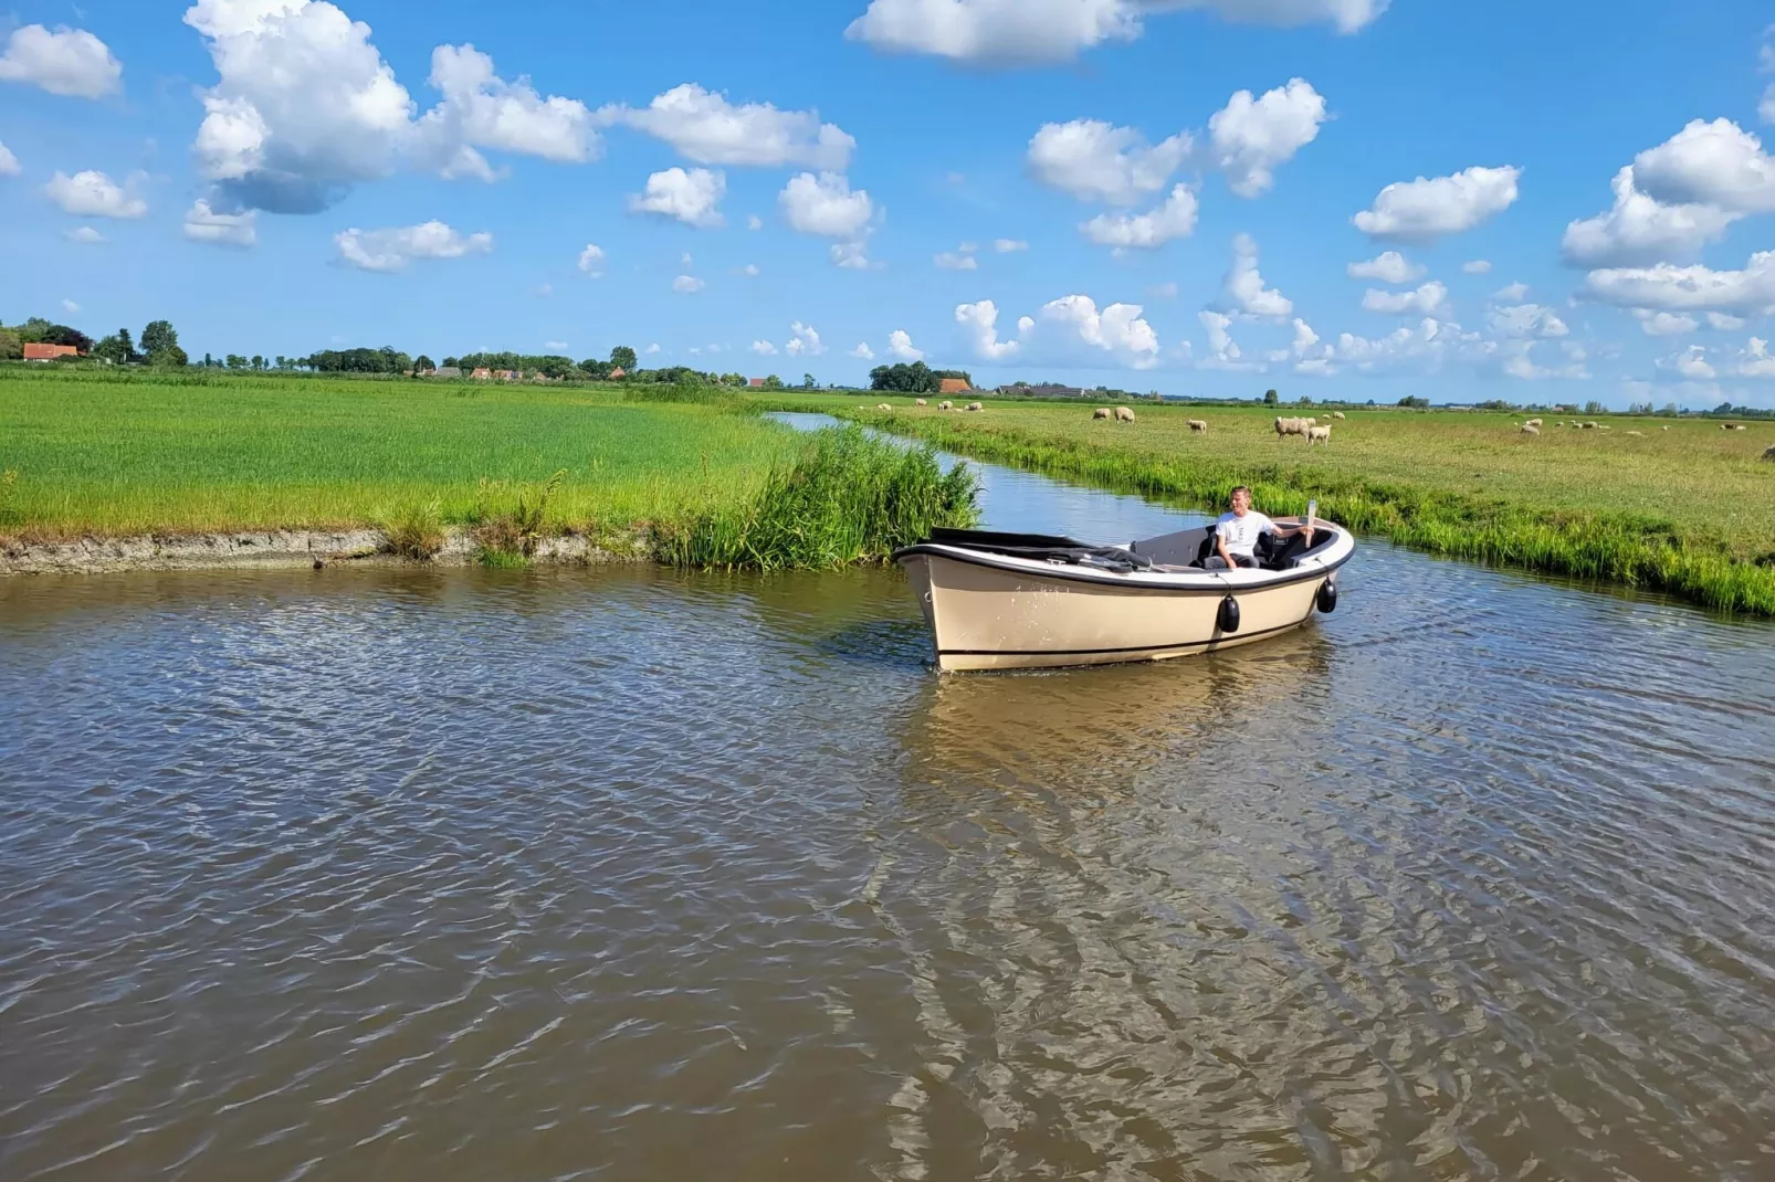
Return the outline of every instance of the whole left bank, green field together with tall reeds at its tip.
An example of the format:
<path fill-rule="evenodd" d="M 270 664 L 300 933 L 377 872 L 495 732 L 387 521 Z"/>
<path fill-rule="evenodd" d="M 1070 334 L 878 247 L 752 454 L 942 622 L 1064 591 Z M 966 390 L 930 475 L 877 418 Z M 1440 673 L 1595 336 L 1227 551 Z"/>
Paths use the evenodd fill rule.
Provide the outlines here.
<path fill-rule="evenodd" d="M 458 525 L 495 559 L 577 532 L 689 564 L 834 564 L 969 518 L 971 495 L 925 495 L 935 467 L 907 465 L 673 389 L 0 367 L 14 540 L 378 527 L 422 556 Z M 886 492 L 797 495 L 809 479 Z"/>

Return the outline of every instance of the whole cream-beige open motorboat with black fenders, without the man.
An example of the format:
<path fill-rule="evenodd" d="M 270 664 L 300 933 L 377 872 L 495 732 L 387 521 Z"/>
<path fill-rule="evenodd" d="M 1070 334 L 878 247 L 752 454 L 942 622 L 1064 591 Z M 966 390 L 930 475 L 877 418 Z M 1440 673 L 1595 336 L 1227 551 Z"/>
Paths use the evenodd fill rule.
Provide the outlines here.
<path fill-rule="evenodd" d="M 1312 547 L 1274 570 L 1203 570 L 1211 531 L 1088 545 L 939 529 L 893 557 L 918 593 L 943 671 L 1170 660 L 1262 641 L 1315 609 L 1337 609 L 1337 571 L 1356 552 L 1347 529 L 1315 518 Z"/>

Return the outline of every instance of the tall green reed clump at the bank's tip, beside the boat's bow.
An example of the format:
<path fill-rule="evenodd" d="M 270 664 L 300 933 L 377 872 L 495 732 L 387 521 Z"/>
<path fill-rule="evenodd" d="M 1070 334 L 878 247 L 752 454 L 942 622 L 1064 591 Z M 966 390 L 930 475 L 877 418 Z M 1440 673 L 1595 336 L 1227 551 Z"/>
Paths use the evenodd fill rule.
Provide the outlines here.
<path fill-rule="evenodd" d="M 928 449 L 905 449 L 859 428 L 813 437 L 754 497 L 659 532 L 664 563 L 699 568 L 836 568 L 882 561 L 932 527 L 978 520 L 978 479 L 944 474 Z"/>

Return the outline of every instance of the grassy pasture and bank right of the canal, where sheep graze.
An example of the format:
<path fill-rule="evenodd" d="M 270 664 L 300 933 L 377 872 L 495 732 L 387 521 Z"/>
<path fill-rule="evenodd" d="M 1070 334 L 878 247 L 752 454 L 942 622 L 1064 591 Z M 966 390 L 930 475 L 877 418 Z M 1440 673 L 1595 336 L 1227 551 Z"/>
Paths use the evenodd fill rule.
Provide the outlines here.
<path fill-rule="evenodd" d="M 1276 442 L 1276 412 L 1258 408 L 1141 405 L 1136 422 L 1116 424 L 1079 405 L 987 403 L 969 415 L 905 398 L 783 401 L 1196 506 L 1221 504 L 1234 485 L 1251 485 L 1271 513 L 1317 497 L 1322 515 L 1418 550 L 1775 616 L 1775 465 L 1759 460 L 1775 424 L 1613 417 L 1610 431 L 1574 431 L 1542 415 L 1530 437 L 1512 426 L 1521 415 L 1349 410 L 1331 445 L 1308 451 L 1299 438 Z M 1209 433 L 1191 433 L 1189 419 Z"/>

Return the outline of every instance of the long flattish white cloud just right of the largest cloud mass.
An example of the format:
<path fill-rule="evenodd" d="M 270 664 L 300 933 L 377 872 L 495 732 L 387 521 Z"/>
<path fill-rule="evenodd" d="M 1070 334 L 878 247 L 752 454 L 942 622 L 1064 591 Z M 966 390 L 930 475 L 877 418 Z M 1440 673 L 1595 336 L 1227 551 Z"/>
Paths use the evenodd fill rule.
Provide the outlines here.
<path fill-rule="evenodd" d="M 818 112 L 777 110 L 770 103 L 735 106 L 726 96 L 689 82 L 666 91 L 641 110 L 605 106 L 598 119 L 659 137 L 696 163 L 804 165 L 843 172 L 857 146 L 843 130 L 820 122 Z"/>

